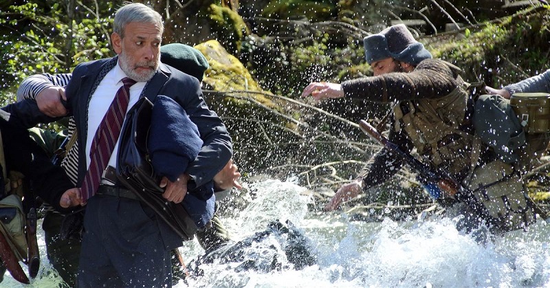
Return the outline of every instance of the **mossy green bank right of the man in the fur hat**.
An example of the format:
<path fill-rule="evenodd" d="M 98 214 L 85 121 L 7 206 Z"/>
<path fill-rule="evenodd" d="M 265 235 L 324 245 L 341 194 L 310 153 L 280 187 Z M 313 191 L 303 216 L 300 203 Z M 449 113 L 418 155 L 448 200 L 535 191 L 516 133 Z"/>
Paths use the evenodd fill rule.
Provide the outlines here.
<path fill-rule="evenodd" d="M 462 67 L 464 78 L 502 87 L 550 68 L 549 7 L 522 10 L 476 32 L 428 45 L 434 57 Z"/>

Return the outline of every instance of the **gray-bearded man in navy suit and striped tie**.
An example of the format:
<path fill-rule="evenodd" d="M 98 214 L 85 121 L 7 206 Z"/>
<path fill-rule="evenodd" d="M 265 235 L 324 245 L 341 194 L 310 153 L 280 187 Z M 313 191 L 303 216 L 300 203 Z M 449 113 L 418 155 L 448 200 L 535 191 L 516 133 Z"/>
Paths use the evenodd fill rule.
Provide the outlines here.
<path fill-rule="evenodd" d="M 188 184 L 201 187 L 211 183 L 230 163 L 231 138 L 204 102 L 199 80 L 159 62 L 163 31 L 162 17 L 152 8 L 141 3 L 122 6 L 115 14 L 111 35 L 117 56 L 81 63 L 65 89 L 61 115 L 66 109 L 68 116 L 74 116 L 78 130 L 76 144 L 81 153 L 74 176 L 82 192 L 80 201 L 86 206 L 78 287 L 172 285 L 169 253 L 183 239 L 112 173 L 124 115 L 140 98 L 152 102 L 171 99 L 196 124 L 203 142 L 186 167 L 176 164 L 174 173 L 162 175 L 162 197 L 181 204 L 189 203 L 188 199 L 203 201 L 205 205 L 193 207 L 193 213 L 201 216 L 193 219 L 199 230 L 206 228 L 214 212 L 213 189 L 188 190 Z M 58 111 L 50 115 L 40 109 L 37 113 L 34 100 L 5 109 L 28 120 L 28 126 L 61 116 Z M 184 142 L 162 139 L 172 148 Z M 232 186 L 231 181 L 228 185 Z"/>

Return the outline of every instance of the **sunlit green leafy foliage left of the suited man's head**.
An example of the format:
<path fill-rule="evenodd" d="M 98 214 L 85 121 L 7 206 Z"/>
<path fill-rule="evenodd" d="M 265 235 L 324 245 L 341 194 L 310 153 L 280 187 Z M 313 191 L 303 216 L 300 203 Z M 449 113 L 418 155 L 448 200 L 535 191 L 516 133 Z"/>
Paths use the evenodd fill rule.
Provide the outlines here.
<path fill-rule="evenodd" d="M 103 4 L 110 15 L 112 2 Z M 0 35 L 3 87 L 14 91 L 32 74 L 67 73 L 78 63 L 111 56 L 111 19 L 90 18 L 87 7 L 78 8 L 86 14 L 67 13 L 66 6 L 57 2 L 11 5 L 0 12 L 1 26 L 11 31 Z"/>

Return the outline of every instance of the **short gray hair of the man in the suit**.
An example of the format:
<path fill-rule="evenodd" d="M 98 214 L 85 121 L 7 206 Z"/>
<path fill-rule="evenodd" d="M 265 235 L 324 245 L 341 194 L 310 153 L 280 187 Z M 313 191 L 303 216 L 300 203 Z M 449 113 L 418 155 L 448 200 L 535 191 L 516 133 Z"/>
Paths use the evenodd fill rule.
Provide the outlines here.
<path fill-rule="evenodd" d="M 120 35 L 120 38 L 124 38 L 124 28 L 131 22 L 151 23 L 160 28 L 160 34 L 164 32 L 162 16 L 142 3 L 129 3 L 119 8 L 113 21 L 113 32 Z"/>

